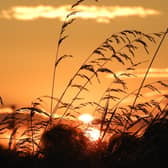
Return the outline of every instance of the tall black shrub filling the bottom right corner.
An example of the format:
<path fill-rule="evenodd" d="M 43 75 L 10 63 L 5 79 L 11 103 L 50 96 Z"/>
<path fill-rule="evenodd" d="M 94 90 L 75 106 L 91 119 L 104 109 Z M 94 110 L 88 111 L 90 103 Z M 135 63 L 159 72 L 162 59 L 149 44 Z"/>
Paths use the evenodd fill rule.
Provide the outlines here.
<path fill-rule="evenodd" d="M 157 119 L 149 125 L 142 137 L 140 160 L 145 165 L 163 167 L 167 163 L 168 119 Z"/>

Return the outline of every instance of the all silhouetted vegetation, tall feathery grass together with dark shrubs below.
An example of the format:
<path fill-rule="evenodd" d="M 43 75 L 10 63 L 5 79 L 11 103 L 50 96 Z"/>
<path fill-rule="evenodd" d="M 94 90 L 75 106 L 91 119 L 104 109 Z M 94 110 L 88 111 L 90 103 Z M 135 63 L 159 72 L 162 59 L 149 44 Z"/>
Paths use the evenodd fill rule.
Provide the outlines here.
<path fill-rule="evenodd" d="M 7 140 L 7 149 L 0 148 L 0 161 L 6 167 L 24 165 L 41 168 L 59 164 L 61 167 L 130 168 L 166 163 L 168 94 L 162 94 L 160 90 L 168 88 L 168 81 L 158 80 L 147 84 L 145 81 L 168 30 L 150 34 L 137 30 L 112 33 L 87 56 L 60 97 L 54 95 L 57 66 L 65 58 L 72 57 L 70 54 L 61 55 L 60 46 L 69 37 L 66 29 L 76 20 L 75 14 L 80 12 L 75 8 L 84 1 L 78 0 L 72 4 L 70 13 L 61 25 L 51 94 L 36 98 L 31 107 L 1 114 L 0 135 Z M 158 41 L 159 45 L 156 46 Z M 136 56 L 139 51 L 150 55 L 150 45 L 155 45 L 156 51 L 140 86 L 130 91 L 126 78 L 135 76 L 138 66 L 146 62 L 137 61 Z M 121 69 L 116 72 L 112 65 L 119 65 Z M 94 85 L 94 78 L 104 84 L 102 74 L 111 75 L 110 85 L 107 84 L 98 102 L 85 101 L 81 93 L 89 92 L 89 86 Z M 76 92 L 71 100 L 64 102 L 68 92 L 74 88 Z M 146 100 L 146 90 L 157 93 L 158 99 Z M 131 96 L 132 103 L 122 104 Z M 46 98 L 50 100 L 48 112 L 41 108 Z M 101 132 L 100 139 L 95 142 L 91 142 L 75 124 L 78 122 L 76 114 L 79 115 L 82 108 L 90 105 L 94 107 L 92 113 L 95 116 L 101 115 L 89 125 L 96 126 Z M 2 97 L 0 106 L 4 106 Z M 61 116 L 54 117 L 60 109 L 63 110 Z M 7 132 L 7 137 L 3 138 Z"/>

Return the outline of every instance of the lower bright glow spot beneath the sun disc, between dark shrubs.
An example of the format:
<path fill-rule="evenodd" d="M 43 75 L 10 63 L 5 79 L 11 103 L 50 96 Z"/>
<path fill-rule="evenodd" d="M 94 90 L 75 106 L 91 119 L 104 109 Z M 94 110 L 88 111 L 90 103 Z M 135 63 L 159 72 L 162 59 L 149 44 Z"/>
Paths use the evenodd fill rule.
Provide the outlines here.
<path fill-rule="evenodd" d="M 89 127 L 85 131 L 85 135 L 91 140 L 91 141 L 97 141 L 100 138 L 100 131 L 96 128 Z"/>

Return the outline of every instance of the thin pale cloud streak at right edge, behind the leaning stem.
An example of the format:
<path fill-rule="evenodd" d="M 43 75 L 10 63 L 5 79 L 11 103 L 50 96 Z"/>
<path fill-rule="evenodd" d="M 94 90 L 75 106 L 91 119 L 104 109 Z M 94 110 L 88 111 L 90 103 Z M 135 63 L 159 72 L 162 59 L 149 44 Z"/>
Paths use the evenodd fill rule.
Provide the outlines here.
<path fill-rule="evenodd" d="M 117 72 L 118 75 L 122 74 L 124 72 Z M 146 73 L 146 69 L 137 69 L 133 71 L 133 75 L 127 77 L 123 76 L 124 78 L 143 78 Z M 107 78 L 113 78 L 113 75 L 108 74 Z M 167 78 L 168 79 L 168 68 L 151 68 L 148 73 L 148 78 Z"/>

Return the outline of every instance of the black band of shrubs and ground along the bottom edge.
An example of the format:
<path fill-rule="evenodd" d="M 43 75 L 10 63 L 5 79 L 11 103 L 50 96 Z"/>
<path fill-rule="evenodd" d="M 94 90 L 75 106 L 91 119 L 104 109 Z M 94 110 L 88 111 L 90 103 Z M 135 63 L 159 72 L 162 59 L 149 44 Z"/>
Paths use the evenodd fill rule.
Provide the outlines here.
<path fill-rule="evenodd" d="M 69 125 L 58 124 L 42 136 L 41 151 L 20 155 L 0 148 L 3 167 L 131 168 L 165 167 L 168 151 L 168 119 L 153 120 L 142 136 L 122 133 L 108 142 L 90 142 Z"/>

